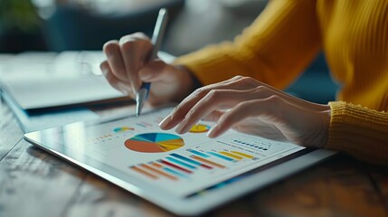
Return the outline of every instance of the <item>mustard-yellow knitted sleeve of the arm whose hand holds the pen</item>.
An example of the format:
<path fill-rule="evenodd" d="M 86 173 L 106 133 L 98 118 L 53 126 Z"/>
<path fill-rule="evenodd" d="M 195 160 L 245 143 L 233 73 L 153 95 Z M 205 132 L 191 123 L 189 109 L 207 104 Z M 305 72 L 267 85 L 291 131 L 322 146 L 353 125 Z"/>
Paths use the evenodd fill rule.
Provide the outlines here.
<path fill-rule="evenodd" d="M 295 80 L 321 48 L 316 1 L 272 0 L 233 42 L 222 42 L 179 57 L 207 85 L 236 75 L 278 89 Z"/>

